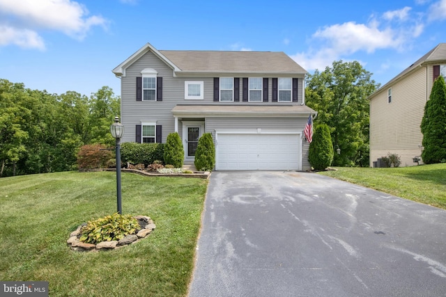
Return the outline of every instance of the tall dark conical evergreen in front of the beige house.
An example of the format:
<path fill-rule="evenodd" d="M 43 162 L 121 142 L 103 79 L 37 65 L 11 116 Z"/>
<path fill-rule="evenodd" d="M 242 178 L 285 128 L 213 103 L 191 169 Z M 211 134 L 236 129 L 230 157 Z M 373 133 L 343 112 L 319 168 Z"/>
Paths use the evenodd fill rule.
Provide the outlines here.
<path fill-rule="evenodd" d="M 446 161 L 446 85 L 443 77 L 433 82 L 431 95 L 424 106 L 421 122 L 423 147 L 421 153 L 426 164 Z"/>

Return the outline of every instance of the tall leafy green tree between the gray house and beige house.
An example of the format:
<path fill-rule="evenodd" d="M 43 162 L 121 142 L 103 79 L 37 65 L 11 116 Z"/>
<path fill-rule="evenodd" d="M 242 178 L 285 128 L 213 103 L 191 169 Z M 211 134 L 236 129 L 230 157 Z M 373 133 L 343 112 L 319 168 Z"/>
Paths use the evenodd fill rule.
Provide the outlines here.
<path fill-rule="evenodd" d="M 307 78 L 305 102 L 318 112 L 315 125 L 330 127 L 334 166 L 369 166 L 369 95 L 379 87 L 357 61 L 334 61 Z"/>

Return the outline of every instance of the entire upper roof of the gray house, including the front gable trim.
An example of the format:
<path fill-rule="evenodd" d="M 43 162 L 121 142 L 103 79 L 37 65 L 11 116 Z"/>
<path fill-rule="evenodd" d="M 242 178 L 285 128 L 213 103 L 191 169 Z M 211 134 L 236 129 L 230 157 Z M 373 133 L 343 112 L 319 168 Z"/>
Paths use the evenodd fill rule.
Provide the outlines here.
<path fill-rule="evenodd" d="M 148 51 L 169 65 L 176 74 L 307 74 L 283 51 L 161 51 L 150 43 L 112 70 L 125 76 L 125 70 Z"/>

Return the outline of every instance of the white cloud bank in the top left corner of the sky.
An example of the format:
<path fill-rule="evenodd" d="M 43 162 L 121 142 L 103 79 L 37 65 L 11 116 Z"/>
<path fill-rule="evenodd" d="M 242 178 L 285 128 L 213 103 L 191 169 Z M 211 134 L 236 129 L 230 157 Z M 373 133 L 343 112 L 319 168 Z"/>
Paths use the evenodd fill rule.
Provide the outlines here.
<path fill-rule="evenodd" d="M 8 27 L 8 32 L 13 32 L 8 43 L 17 45 L 29 40 L 26 47 L 41 47 L 39 42 L 33 42 L 33 39 L 43 42 L 38 35 L 39 29 L 60 31 L 82 40 L 91 27 L 105 27 L 107 24 L 107 20 L 99 15 L 88 16 L 85 6 L 71 0 L 0 0 L 0 12 L 3 15 L 0 26 Z"/>

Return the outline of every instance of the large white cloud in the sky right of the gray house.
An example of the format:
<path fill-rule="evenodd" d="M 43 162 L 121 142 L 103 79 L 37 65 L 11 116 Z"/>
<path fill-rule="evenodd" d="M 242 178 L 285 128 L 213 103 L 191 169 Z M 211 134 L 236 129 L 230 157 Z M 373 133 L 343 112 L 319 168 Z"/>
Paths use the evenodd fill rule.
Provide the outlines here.
<path fill-rule="evenodd" d="M 446 3 L 446 0 L 442 1 Z M 372 54 L 380 49 L 403 51 L 425 28 L 425 24 L 411 17 L 410 12 L 411 8 L 405 7 L 378 17 L 371 15 L 367 24 L 345 22 L 325 26 L 309 39 L 308 51 L 291 58 L 306 70 L 324 70 L 339 59 L 356 60 L 352 56 L 359 52 Z"/>

